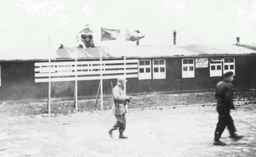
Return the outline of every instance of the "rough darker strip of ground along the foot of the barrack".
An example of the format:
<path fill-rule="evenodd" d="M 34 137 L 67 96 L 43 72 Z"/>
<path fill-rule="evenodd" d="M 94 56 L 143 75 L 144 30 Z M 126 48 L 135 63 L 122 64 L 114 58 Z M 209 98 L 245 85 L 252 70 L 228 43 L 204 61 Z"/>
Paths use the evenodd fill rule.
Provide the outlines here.
<path fill-rule="evenodd" d="M 253 91 L 243 91 L 235 93 L 235 101 L 255 101 Z M 95 107 L 95 99 L 79 100 L 78 112 L 100 111 L 100 98 Z M 103 108 L 110 110 L 112 106 L 111 98 L 104 98 Z M 185 94 L 149 94 L 135 95 L 129 103 L 130 109 L 143 109 L 156 106 L 175 106 L 201 103 L 215 103 L 214 93 L 185 93 Z M 51 102 L 51 113 L 53 114 L 71 114 L 74 112 L 74 101 Z M 47 103 L 5 103 L 0 104 L 1 117 L 19 117 L 27 115 L 36 115 L 48 113 Z"/>

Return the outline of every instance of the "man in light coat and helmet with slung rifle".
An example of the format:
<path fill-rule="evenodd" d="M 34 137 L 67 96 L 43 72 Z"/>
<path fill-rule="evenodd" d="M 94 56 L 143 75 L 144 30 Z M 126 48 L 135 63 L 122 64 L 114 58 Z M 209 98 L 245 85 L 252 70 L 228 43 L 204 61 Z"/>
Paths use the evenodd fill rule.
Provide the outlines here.
<path fill-rule="evenodd" d="M 112 138 L 112 131 L 119 128 L 119 139 L 128 138 L 123 136 L 123 131 L 126 129 L 126 101 L 129 102 L 131 96 L 125 94 L 123 89 L 125 88 L 127 80 L 125 78 L 118 78 L 117 85 L 113 88 L 114 104 L 112 105 L 112 113 L 117 118 L 117 122 L 114 124 L 113 128 L 108 131 L 110 137 Z"/>

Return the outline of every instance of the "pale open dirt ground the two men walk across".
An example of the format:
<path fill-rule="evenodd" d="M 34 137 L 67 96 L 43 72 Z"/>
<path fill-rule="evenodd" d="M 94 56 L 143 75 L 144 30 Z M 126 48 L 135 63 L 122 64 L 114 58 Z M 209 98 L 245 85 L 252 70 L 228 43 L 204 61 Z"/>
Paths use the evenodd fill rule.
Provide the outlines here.
<path fill-rule="evenodd" d="M 226 146 L 212 144 L 218 121 L 215 106 L 161 110 L 138 109 L 126 114 L 128 139 L 110 138 L 115 122 L 107 112 L 40 114 L 2 118 L 0 156 L 256 156 L 256 104 L 231 112 L 239 135 Z"/>

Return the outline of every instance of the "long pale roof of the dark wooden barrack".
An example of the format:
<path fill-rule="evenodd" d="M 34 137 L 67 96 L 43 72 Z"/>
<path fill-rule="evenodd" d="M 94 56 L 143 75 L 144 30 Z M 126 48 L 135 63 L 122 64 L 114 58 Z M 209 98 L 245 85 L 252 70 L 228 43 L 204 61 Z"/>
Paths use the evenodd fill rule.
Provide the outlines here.
<path fill-rule="evenodd" d="M 15 60 L 94 60 L 103 59 L 154 58 L 154 57 L 184 57 L 184 56 L 235 56 L 256 54 L 256 47 L 250 45 L 169 45 L 169 46 L 103 46 L 91 47 L 86 50 L 81 47 L 65 47 L 50 50 L 50 48 L 1 48 L 0 61 Z"/>

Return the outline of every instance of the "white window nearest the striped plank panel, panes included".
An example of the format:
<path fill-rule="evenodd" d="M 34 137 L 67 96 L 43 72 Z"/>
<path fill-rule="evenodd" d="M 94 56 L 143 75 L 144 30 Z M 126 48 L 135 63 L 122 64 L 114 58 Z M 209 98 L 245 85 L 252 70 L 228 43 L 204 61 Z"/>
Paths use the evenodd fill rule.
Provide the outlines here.
<path fill-rule="evenodd" d="M 151 61 L 139 60 L 138 61 L 138 79 L 151 79 Z"/>

